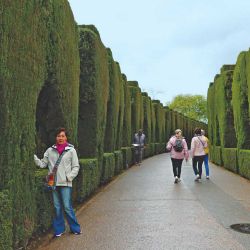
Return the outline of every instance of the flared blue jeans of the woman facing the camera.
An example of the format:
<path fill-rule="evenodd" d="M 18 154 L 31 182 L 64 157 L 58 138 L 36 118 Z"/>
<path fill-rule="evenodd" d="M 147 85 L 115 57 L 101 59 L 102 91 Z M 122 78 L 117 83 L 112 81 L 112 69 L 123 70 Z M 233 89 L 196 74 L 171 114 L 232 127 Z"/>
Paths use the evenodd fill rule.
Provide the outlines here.
<path fill-rule="evenodd" d="M 53 220 L 53 228 L 55 234 L 60 234 L 65 231 L 65 223 L 63 210 L 66 214 L 66 219 L 72 233 L 80 233 L 81 228 L 77 222 L 75 212 L 71 202 L 71 187 L 56 187 L 52 192 L 56 216 Z"/>

